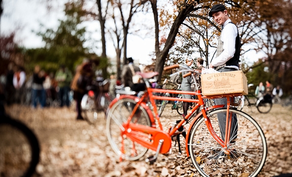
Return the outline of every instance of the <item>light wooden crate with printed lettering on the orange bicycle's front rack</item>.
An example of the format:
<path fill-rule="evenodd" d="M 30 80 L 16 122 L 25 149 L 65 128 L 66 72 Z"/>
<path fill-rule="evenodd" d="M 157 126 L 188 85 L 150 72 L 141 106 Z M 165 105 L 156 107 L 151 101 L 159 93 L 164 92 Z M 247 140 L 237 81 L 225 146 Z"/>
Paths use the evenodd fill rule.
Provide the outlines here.
<path fill-rule="evenodd" d="M 202 74 L 202 94 L 205 96 L 228 93 L 248 94 L 247 79 L 241 70 Z"/>

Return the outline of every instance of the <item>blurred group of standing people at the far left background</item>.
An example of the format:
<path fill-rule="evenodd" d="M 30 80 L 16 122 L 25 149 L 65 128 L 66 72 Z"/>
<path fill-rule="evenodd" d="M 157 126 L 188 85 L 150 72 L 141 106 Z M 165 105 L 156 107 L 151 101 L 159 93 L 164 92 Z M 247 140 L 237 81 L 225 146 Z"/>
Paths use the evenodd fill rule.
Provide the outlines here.
<path fill-rule="evenodd" d="M 47 73 L 35 65 L 28 77 L 22 66 L 9 63 L 7 71 L 0 76 L 0 89 L 7 105 L 13 103 L 31 105 L 33 108 L 70 106 L 70 83 L 72 73 L 64 65 L 56 73 Z"/>

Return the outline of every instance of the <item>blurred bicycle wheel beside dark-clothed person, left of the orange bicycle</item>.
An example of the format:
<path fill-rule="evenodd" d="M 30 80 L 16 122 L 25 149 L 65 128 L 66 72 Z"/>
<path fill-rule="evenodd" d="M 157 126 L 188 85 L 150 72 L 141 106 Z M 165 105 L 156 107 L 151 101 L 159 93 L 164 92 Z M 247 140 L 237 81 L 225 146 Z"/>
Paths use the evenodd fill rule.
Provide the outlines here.
<path fill-rule="evenodd" d="M 85 94 L 81 101 L 82 117 L 85 118 L 89 124 L 95 124 L 98 117 L 101 117 L 101 112 L 97 111 L 94 97 Z"/>

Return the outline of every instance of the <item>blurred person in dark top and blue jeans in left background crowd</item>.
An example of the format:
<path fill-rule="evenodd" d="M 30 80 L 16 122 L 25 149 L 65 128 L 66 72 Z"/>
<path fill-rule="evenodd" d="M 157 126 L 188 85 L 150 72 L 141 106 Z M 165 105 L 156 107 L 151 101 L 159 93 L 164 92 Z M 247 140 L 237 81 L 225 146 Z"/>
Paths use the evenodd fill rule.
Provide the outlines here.
<path fill-rule="evenodd" d="M 31 104 L 33 108 L 36 108 L 38 102 L 41 108 L 44 108 L 46 105 L 46 92 L 43 88 L 45 79 L 45 71 L 41 70 L 39 65 L 36 65 L 31 84 Z"/>

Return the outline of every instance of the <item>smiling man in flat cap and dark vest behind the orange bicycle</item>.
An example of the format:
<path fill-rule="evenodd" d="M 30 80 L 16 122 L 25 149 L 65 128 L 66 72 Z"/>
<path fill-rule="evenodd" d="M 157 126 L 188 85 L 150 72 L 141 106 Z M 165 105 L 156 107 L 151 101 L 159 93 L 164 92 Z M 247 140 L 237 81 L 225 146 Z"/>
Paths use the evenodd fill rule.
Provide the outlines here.
<path fill-rule="evenodd" d="M 240 38 L 237 27 L 232 23 L 228 16 L 228 12 L 224 5 L 215 4 L 209 11 L 209 16 L 214 21 L 222 26 L 222 31 L 218 40 L 217 55 L 216 58 L 211 61 L 208 65 L 209 68 L 214 68 L 219 72 L 229 72 L 239 70 L 239 56 L 240 56 Z M 227 99 L 219 98 L 215 99 L 217 104 L 225 104 L 227 107 Z M 219 124 L 221 126 L 221 135 L 224 140 L 225 137 L 225 126 L 226 126 L 226 115 L 218 114 Z M 230 141 L 235 141 L 237 131 L 237 118 L 236 115 L 232 118 L 232 130 Z M 235 131 L 235 132 L 234 132 Z"/>

